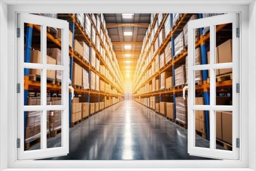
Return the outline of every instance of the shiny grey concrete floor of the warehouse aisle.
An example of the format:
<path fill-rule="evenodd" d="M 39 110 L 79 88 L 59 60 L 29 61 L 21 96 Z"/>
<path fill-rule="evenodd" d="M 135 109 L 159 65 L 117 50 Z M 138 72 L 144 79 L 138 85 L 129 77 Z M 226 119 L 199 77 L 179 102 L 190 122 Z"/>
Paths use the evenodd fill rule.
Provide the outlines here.
<path fill-rule="evenodd" d="M 196 137 L 198 146 L 209 142 Z M 60 145 L 60 135 L 48 140 Z M 33 147 L 36 148 L 36 147 Z M 132 100 L 124 100 L 70 129 L 70 153 L 48 160 L 194 160 L 187 131 Z"/>

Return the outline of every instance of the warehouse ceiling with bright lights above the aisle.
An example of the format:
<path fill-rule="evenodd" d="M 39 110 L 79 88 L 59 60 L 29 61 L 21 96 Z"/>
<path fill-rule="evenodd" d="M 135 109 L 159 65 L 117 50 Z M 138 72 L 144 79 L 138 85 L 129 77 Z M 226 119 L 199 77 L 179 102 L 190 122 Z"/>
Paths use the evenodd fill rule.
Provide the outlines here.
<path fill-rule="evenodd" d="M 151 14 L 104 14 L 106 27 L 125 81 L 133 80 Z M 124 35 L 129 34 L 129 35 Z M 131 45 L 131 49 L 125 49 Z"/>

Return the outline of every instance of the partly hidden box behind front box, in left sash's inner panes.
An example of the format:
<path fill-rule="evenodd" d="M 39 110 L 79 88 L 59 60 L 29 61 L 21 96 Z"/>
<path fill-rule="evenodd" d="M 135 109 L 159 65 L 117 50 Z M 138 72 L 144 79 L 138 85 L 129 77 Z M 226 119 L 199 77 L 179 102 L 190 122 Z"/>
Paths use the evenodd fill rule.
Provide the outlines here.
<path fill-rule="evenodd" d="M 47 55 L 51 56 L 52 58 L 56 59 L 56 65 L 61 65 L 61 50 L 58 48 L 47 48 Z M 62 72 L 57 70 L 56 71 L 56 79 L 61 82 L 62 80 Z"/>

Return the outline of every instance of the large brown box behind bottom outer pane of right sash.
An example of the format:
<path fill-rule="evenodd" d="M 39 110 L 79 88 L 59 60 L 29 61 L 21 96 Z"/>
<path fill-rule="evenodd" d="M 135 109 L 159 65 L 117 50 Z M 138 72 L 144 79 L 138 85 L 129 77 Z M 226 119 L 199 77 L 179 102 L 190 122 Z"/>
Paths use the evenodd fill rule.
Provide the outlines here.
<path fill-rule="evenodd" d="M 232 112 L 221 112 L 222 140 L 232 144 Z"/>

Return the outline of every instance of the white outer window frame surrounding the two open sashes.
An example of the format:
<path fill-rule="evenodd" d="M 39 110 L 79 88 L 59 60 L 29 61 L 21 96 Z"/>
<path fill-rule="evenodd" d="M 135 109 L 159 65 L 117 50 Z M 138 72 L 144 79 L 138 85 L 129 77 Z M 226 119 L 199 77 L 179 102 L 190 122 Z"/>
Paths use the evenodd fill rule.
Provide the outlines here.
<path fill-rule="evenodd" d="M 254 1 L 108 1 L 108 2 L 83 2 L 83 1 L 3 1 L 0 2 L 0 165 L 1 169 L 22 170 L 21 168 L 34 168 L 33 170 L 56 170 L 54 168 L 99 168 L 98 170 L 175 170 L 175 168 L 185 168 L 186 170 L 255 170 L 256 148 L 255 148 L 255 122 L 256 113 L 256 91 L 255 88 L 255 59 L 256 56 L 256 5 Z M 51 3 L 51 5 L 47 5 Z M 118 4 L 117 4 L 118 3 Z M 186 5 L 189 3 L 189 5 Z M 204 4 L 205 3 L 205 4 Z M 42 5 L 43 4 L 43 5 Z M 54 5 L 59 4 L 59 5 Z M 68 5 L 74 4 L 74 5 Z M 109 5 L 108 5 L 109 4 Z M 209 5 L 210 4 L 210 5 Z M 241 47 L 240 47 L 240 113 L 243 113 L 240 122 L 241 144 L 240 160 L 205 161 L 205 160 L 151 160 L 151 161 L 17 161 L 16 160 L 16 38 L 15 38 L 15 18 L 17 12 L 87 12 L 87 13 L 152 13 L 152 12 L 173 12 L 173 13 L 221 13 L 240 12 L 241 13 Z M 8 18 L 7 18 L 8 16 Z M 6 33 L 8 32 L 8 36 Z M 250 36 L 248 36 L 250 34 Z M 6 44 L 8 40 L 8 44 Z M 6 51 L 8 49 L 8 51 Z M 248 51 L 248 50 L 251 51 Z M 8 56 L 4 58 L 3 56 Z M 3 63 L 4 62 L 4 63 Z M 8 63 L 8 65 L 6 65 Z M 8 71 L 8 77 L 5 75 Z M 250 72 L 249 72 L 250 71 Z M 248 79 L 250 84 L 248 83 Z M 254 83 L 254 84 L 253 84 Z M 250 93 L 248 89 L 251 88 Z M 8 92 L 8 93 L 7 93 Z M 2 95 L 6 95 L 3 97 Z M 8 97 L 8 98 L 6 98 Z M 6 100 L 8 99 L 8 100 Z M 7 107 L 6 107 L 7 106 Z M 241 112 L 243 111 L 243 112 Z M 4 113 L 3 113 L 4 112 Z M 4 115 L 5 114 L 5 115 Z M 250 128 L 250 129 L 249 129 Z M 8 132 L 6 131 L 8 130 Z M 250 136 L 248 136 L 250 134 Z M 8 146 L 8 148 L 6 148 Z M 248 150 L 250 148 L 250 150 Z M 48 169 L 47 169 L 47 168 Z M 20 168 L 20 169 L 18 169 Z M 38 168 L 38 169 L 36 169 Z M 52 168 L 52 169 L 49 169 Z M 104 169 L 106 168 L 106 169 Z M 115 168 L 115 169 L 113 169 Z M 123 169 L 122 169 L 123 168 Z M 138 169 L 133 169 L 138 168 Z M 153 169 L 154 168 L 154 169 Z M 173 168 L 173 169 L 172 169 Z M 221 169 L 222 168 L 222 169 Z M 86 170 L 86 169 L 84 169 Z M 88 169 L 87 169 L 88 170 Z M 198 169 L 196 169 L 198 170 Z"/>

